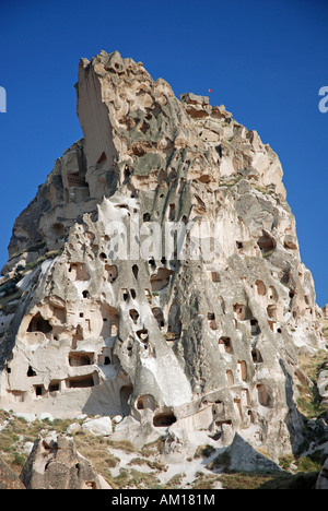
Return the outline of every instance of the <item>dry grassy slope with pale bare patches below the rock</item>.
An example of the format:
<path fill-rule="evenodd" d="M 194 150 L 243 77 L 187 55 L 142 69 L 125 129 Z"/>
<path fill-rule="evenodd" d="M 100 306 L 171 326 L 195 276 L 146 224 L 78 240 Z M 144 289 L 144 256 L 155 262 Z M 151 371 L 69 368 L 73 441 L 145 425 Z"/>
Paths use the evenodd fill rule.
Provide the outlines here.
<path fill-rule="evenodd" d="M 42 432 L 66 432 L 71 420 L 55 419 L 26 420 L 13 417 L 10 413 L 0 411 L 0 456 L 10 468 L 20 475 L 27 459 L 26 442 L 34 442 Z M 172 466 L 163 457 L 164 439 L 152 442 L 140 451 L 128 441 L 114 442 L 108 437 L 93 436 L 82 429 L 73 435 L 77 450 L 95 467 L 96 472 L 114 489 L 314 489 L 323 462 L 324 451 L 317 451 L 307 456 L 284 456 L 280 460 L 282 472 L 276 473 L 237 473 L 224 470 L 229 465 L 229 454 L 222 453 L 203 470 L 196 471 L 192 478 L 179 471 L 165 476 Z M 213 454 L 211 445 L 200 445 L 194 459 L 186 460 L 186 468 L 196 460 L 204 463 Z M 293 473 L 290 471 L 293 465 Z M 220 470 L 222 472 L 220 472 Z M 212 472 L 214 471 L 214 473 Z M 218 471 L 218 472 L 216 472 Z M 165 478 L 165 482 L 163 479 Z M 218 486 L 219 485 L 219 486 Z"/>

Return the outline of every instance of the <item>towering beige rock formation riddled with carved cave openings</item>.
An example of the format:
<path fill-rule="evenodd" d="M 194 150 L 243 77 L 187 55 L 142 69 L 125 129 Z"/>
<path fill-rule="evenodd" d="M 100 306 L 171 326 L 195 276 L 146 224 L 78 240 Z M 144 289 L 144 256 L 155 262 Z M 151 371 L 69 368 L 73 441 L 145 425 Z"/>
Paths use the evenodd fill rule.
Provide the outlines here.
<path fill-rule="evenodd" d="M 118 52 L 82 59 L 77 94 L 84 138 L 2 270 L 1 406 L 291 451 L 298 355 L 325 343 L 277 154 Z"/>

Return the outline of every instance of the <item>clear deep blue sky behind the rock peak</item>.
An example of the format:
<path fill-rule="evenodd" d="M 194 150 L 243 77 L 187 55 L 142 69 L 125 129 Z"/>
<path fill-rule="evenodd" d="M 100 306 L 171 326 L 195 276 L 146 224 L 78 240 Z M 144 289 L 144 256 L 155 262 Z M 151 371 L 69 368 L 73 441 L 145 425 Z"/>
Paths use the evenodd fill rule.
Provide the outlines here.
<path fill-rule="evenodd" d="M 211 94 L 281 159 L 303 262 L 328 302 L 327 0 L 0 0 L 0 265 L 19 213 L 81 138 L 79 59 L 141 60 L 178 96 Z"/>

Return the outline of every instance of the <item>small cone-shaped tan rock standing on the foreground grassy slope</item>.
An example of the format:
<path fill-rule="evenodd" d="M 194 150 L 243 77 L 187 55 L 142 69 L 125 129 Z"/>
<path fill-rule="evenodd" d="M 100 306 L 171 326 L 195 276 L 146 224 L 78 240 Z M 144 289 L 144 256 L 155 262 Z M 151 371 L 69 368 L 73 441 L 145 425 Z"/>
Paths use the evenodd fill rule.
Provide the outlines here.
<path fill-rule="evenodd" d="M 104 489 L 92 464 L 77 452 L 74 440 L 63 435 L 37 438 L 21 480 L 26 489 Z"/>

